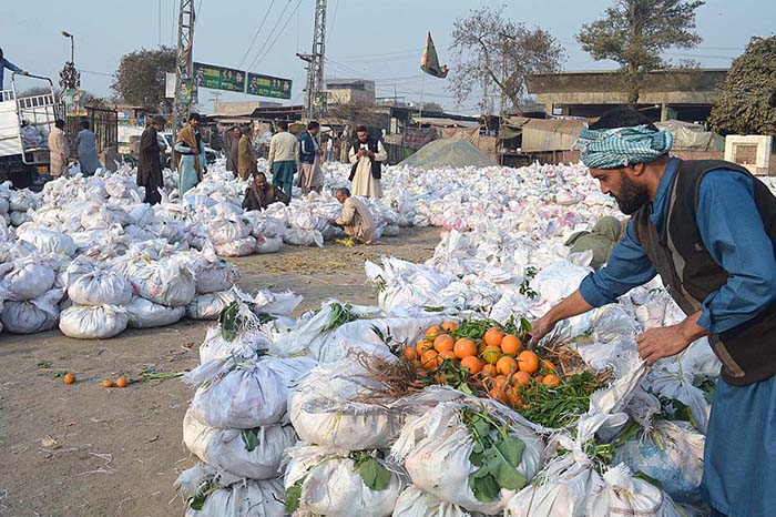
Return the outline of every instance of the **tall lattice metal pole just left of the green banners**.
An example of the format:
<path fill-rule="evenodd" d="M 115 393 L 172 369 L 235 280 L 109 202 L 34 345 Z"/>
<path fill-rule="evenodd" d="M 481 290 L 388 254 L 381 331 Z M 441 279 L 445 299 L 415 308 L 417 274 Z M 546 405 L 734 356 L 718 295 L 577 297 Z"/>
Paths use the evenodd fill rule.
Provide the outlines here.
<path fill-rule="evenodd" d="M 192 108 L 192 49 L 194 44 L 194 0 L 181 0 L 177 17 L 177 58 L 175 60 L 175 101 L 173 104 L 173 139 L 188 120 Z M 173 151 L 174 158 L 174 151 Z M 175 160 L 173 160 L 175 163 Z"/>

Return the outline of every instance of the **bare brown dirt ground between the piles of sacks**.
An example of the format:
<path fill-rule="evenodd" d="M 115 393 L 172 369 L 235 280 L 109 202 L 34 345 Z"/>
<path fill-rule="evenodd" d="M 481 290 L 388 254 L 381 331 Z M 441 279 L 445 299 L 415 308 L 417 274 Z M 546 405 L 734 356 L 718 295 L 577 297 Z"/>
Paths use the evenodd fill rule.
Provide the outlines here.
<path fill-rule="evenodd" d="M 425 261 L 438 242 L 439 230 L 411 229 L 369 247 L 284 246 L 234 263 L 243 290 L 292 290 L 305 297 L 300 312 L 328 297 L 377 303 L 365 285 L 364 261 Z M 2 334 L 0 516 L 182 516 L 173 481 L 194 464 L 182 444 L 192 389 L 177 379 L 124 389 L 105 389 L 100 382 L 191 369 L 211 325 L 184 321 L 109 341 L 71 339 L 59 331 Z M 78 383 L 63 384 L 64 372 Z"/>

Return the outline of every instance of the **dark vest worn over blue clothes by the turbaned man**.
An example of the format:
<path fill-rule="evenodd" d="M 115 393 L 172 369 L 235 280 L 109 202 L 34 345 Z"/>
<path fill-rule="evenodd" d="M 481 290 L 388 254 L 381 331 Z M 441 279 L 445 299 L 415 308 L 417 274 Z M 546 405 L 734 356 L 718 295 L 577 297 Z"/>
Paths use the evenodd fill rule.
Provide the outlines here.
<path fill-rule="evenodd" d="M 665 203 L 663 235 L 650 221 L 651 204 L 633 215 L 636 237 L 668 293 L 686 314 L 701 311 L 706 296 L 727 283 L 728 274 L 708 253 L 696 219 L 701 180 L 718 169 L 752 176 L 746 169 L 722 160 L 680 160 Z M 776 197 L 762 181 L 752 178 L 755 203 L 776 253 Z M 722 361 L 726 383 L 743 386 L 770 377 L 776 374 L 776 303 L 745 324 L 709 336 L 708 341 Z"/>

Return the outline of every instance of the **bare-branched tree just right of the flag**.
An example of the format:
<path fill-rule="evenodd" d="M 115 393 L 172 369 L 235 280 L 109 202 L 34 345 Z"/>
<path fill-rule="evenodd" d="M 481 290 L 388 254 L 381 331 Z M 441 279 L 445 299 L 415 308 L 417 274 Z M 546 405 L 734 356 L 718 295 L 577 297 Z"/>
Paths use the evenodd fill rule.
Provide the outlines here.
<path fill-rule="evenodd" d="M 504 8 L 481 7 L 452 27 L 449 90 L 459 102 L 481 93 L 484 113 L 494 111 L 493 94 L 503 95 L 507 109 L 519 108 L 528 77 L 558 71 L 565 60 L 563 47 L 549 31 L 510 20 Z"/>

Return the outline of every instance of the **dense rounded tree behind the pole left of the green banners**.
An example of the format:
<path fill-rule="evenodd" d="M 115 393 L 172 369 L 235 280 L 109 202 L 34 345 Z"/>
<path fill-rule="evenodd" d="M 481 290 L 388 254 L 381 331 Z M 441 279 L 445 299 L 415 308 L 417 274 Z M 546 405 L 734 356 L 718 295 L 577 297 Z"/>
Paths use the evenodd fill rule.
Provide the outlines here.
<path fill-rule="evenodd" d="M 157 110 L 169 108 L 164 98 L 166 72 L 175 71 L 175 49 L 162 47 L 153 50 L 135 50 L 121 57 L 111 89 L 123 102 Z"/>

